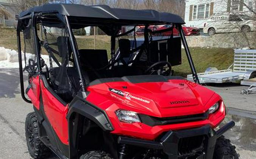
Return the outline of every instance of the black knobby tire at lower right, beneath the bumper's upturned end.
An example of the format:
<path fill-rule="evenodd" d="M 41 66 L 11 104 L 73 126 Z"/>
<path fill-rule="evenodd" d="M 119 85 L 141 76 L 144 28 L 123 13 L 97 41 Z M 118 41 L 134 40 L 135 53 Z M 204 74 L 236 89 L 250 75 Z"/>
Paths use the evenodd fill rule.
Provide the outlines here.
<path fill-rule="evenodd" d="M 213 159 L 239 159 L 239 156 L 236 147 L 231 145 L 230 140 L 220 136 L 216 141 Z"/>

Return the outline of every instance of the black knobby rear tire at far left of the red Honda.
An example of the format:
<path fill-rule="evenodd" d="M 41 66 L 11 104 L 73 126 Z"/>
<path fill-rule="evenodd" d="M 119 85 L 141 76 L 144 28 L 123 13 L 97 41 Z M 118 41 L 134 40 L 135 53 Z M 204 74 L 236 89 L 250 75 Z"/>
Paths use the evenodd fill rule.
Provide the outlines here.
<path fill-rule="evenodd" d="M 44 159 L 50 156 L 51 150 L 39 139 L 39 123 L 36 113 L 29 113 L 25 122 L 25 135 L 28 152 L 34 159 Z"/>

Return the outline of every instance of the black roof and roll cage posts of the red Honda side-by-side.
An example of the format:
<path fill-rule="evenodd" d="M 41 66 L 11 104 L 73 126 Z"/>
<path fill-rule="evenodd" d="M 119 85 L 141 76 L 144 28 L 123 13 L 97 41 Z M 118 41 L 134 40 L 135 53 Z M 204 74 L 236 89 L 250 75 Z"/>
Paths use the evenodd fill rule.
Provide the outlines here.
<path fill-rule="evenodd" d="M 30 21 L 30 26 L 32 30 L 32 38 L 33 45 L 35 48 L 35 57 L 37 63 L 33 63 L 31 65 L 35 65 L 38 70 L 38 74 L 42 74 L 42 67 L 44 67 L 44 61 L 41 60 L 41 49 L 40 47 L 43 45 L 42 41 L 38 40 L 37 36 L 37 23 L 40 22 L 45 26 L 56 26 L 58 28 L 65 28 L 67 37 L 69 38 L 69 43 L 72 50 L 72 62 L 77 70 L 81 93 L 83 98 L 86 98 L 86 81 L 84 80 L 84 76 L 81 70 L 81 62 L 80 62 L 80 54 L 78 51 L 78 45 L 75 40 L 75 36 L 73 35 L 72 29 L 83 28 L 86 26 L 98 26 L 101 30 L 103 30 L 107 35 L 111 36 L 111 60 L 106 67 L 113 67 L 116 63 L 116 38 L 125 36 L 131 32 L 135 31 L 135 26 L 144 25 L 144 43 L 141 46 L 138 46 L 132 49 L 130 52 L 136 52 L 137 50 L 143 48 L 145 52 L 150 52 L 150 37 L 149 34 L 161 34 L 162 32 L 172 31 L 173 27 L 176 26 L 180 32 L 181 41 L 183 43 L 187 59 L 189 61 L 190 69 L 193 74 L 193 79 L 196 83 L 199 83 L 197 72 L 194 67 L 194 63 L 192 61 L 192 57 L 190 55 L 189 47 L 187 45 L 187 41 L 185 38 L 185 34 L 182 29 L 182 24 L 184 21 L 177 15 L 167 14 L 167 13 L 159 13 L 151 10 L 142 10 L 142 11 L 134 11 L 127 9 L 111 9 L 107 6 L 83 6 L 79 5 L 83 11 L 77 12 L 73 11 L 73 5 L 44 5 L 40 7 L 32 8 L 28 11 L 22 12 L 19 17 L 18 27 L 17 27 L 17 44 L 18 44 L 18 54 L 19 54 L 19 72 L 20 72 L 20 87 L 22 98 L 26 102 L 30 102 L 25 97 L 24 93 L 24 85 L 23 85 L 23 66 L 22 66 L 22 49 L 20 42 L 20 32 L 24 31 L 28 26 L 28 22 Z M 76 6 L 77 7 L 77 6 Z M 90 9 L 89 11 L 84 11 L 84 9 Z M 76 9 L 77 10 L 77 9 Z M 136 15 L 131 14 L 130 12 L 137 12 Z M 130 15 L 130 17 L 129 17 Z M 155 16 L 149 16 L 155 15 Z M 144 17 L 143 17 L 144 16 Z M 147 17 L 148 16 L 148 17 Z M 145 20 L 147 18 L 148 20 Z M 151 31 L 148 27 L 152 24 L 173 24 L 172 28 L 167 28 L 161 31 Z M 134 29 L 127 31 L 125 33 L 120 34 L 120 27 L 122 25 L 130 25 L 134 26 Z M 41 45 L 41 46 L 40 46 Z M 54 52 L 54 50 L 51 50 Z M 148 55 L 150 56 L 150 54 Z M 68 56 L 68 58 L 70 58 Z M 53 58 L 54 60 L 54 58 Z M 69 59 L 70 60 L 70 59 Z M 48 70 L 48 69 L 47 69 Z"/>

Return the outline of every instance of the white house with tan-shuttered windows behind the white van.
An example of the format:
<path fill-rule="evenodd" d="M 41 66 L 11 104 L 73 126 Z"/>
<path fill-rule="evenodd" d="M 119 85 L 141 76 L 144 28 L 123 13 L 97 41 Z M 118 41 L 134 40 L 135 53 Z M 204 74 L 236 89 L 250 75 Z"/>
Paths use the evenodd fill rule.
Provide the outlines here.
<path fill-rule="evenodd" d="M 185 0 L 186 26 L 204 28 L 204 23 L 213 14 L 248 12 L 244 3 L 256 8 L 256 0 Z"/>

